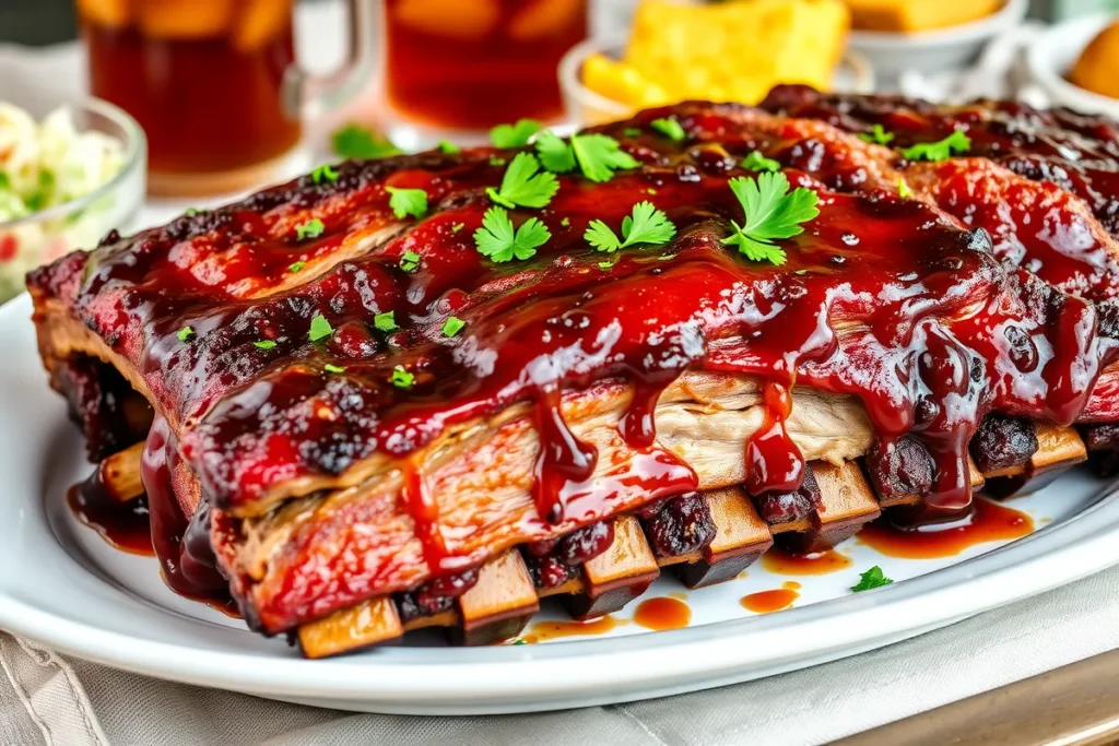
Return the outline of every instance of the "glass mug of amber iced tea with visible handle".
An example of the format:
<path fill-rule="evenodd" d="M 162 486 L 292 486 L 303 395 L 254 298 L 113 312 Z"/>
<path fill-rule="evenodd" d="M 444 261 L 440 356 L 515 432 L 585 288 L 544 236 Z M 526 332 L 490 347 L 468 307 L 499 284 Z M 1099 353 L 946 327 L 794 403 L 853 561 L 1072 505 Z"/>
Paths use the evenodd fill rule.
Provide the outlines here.
<path fill-rule="evenodd" d="M 149 143 L 149 189 L 244 189 L 283 169 L 301 121 L 372 75 L 375 11 L 350 0 L 350 54 L 322 79 L 303 73 L 292 0 L 76 0 L 91 93 L 132 114 Z"/>

